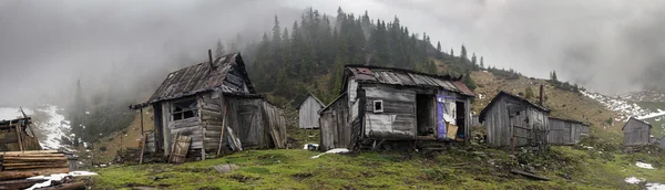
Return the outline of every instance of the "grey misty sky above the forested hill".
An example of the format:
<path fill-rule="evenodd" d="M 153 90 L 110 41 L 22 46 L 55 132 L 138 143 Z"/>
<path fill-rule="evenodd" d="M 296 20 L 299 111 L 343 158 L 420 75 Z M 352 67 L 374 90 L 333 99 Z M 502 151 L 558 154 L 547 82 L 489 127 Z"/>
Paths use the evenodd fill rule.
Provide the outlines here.
<path fill-rule="evenodd" d="M 535 77 L 556 70 L 561 80 L 603 93 L 636 91 L 645 74 L 665 74 L 665 1 L 356 1 L 3 0 L 0 87 L 11 91 L 0 105 L 62 99 L 79 78 L 88 88 L 161 81 L 205 60 L 217 39 L 258 40 L 274 14 L 290 28 L 307 7 L 332 15 L 338 7 L 368 10 L 389 21 L 398 15 L 446 51 L 459 52 L 463 43 L 485 64 Z"/>

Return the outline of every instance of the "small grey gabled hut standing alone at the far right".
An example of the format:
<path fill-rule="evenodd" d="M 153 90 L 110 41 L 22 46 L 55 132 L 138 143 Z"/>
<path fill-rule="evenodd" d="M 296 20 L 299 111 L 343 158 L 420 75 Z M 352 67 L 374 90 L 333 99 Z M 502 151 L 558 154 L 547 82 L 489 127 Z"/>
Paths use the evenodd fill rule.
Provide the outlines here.
<path fill-rule="evenodd" d="M 621 128 L 624 131 L 624 146 L 648 145 L 652 125 L 631 117 Z"/>

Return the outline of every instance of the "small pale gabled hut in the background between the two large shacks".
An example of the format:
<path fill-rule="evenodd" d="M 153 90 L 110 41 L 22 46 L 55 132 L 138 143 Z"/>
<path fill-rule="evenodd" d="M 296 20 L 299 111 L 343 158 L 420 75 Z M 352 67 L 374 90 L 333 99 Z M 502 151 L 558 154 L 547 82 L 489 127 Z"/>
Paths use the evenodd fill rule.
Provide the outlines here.
<path fill-rule="evenodd" d="M 303 129 L 319 128 L 318 112 L 324 108 L 324 103 L 309 93 L 298 106 L 298 127 Z"/>

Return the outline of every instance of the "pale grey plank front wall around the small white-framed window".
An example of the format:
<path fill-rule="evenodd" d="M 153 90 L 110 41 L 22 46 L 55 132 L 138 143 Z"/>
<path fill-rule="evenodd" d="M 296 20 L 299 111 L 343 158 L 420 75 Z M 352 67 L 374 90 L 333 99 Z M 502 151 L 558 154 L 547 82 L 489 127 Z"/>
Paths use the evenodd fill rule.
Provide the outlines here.
<path fill-rule="evenodd" d="M 370 138 L 416 137 L 416 92 L 377 85 L 365 89 L 365 135 Z M 383 102 L 383 113 L 374 113 L 374 101 Z"/>

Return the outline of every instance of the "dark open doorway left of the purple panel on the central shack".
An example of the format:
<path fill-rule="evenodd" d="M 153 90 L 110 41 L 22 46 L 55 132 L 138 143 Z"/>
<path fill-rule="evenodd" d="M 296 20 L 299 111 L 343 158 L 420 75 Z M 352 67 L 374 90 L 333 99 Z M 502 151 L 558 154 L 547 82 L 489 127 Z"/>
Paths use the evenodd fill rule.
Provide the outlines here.
<path fill-rule="evenodd" d="M 433 95 L 416 95 L 416 127 L 418 136 L 429 136 L 434 134 L 437 104 Z"/>

